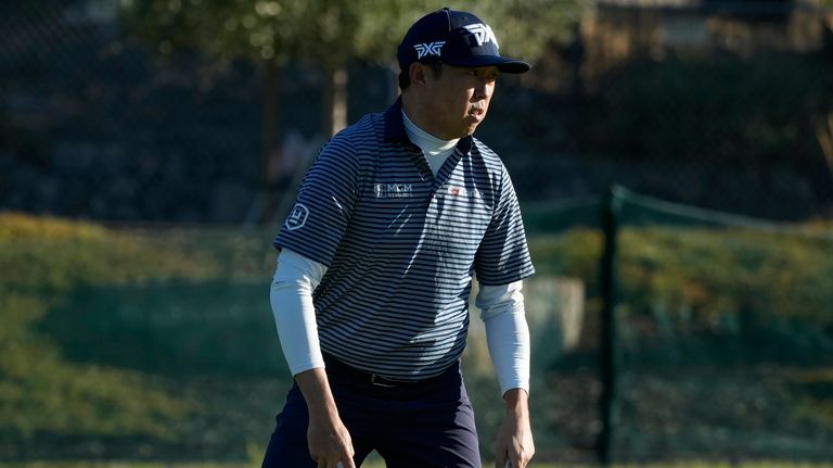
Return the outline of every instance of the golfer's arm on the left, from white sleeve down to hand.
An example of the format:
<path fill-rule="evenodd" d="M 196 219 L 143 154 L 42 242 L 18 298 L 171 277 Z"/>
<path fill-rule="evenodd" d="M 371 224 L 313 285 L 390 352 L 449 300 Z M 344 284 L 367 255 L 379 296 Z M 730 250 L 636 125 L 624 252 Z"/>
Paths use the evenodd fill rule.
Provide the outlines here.
<path fill-rule="evenodd" d="M 355 468 L 353 443 L 338 416 L 318 341 L 312 291 L 326 267 L 290 250 L 278 257 L 270 290 L 272 314 L 286 363 L 309 409 L 307 443 L 320 467 Z"/>

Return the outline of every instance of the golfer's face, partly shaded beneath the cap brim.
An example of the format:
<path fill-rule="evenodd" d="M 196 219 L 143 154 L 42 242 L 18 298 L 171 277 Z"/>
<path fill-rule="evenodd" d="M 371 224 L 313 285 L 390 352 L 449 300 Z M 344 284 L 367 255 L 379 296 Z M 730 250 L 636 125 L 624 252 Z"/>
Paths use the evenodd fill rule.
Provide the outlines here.
<path fill-rule="evenodd" d="M 425 130 L 445 140 L 474 134 L 489 110 L 498 68 L 463 68 L 444 64 L 439 77 L 431 71 L 426 71 L 425 75 L 426 92 L 422 98 L 431 111 Z"/>

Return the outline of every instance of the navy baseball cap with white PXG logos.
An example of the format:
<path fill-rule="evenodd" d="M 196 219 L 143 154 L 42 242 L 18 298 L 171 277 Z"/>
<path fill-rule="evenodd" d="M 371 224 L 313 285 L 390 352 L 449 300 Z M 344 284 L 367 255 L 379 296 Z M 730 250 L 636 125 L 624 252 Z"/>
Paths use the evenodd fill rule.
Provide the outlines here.
<path fill-rule="evenodd" d="M 440 61 L 452 66 L 495 65 L 502 73 L 526 73 L 531 66 L 500 56 L 491 28 L 472 13 L 444 8 L 416 21 L 397 52 L 399 68 L 413 62 Z"/>

